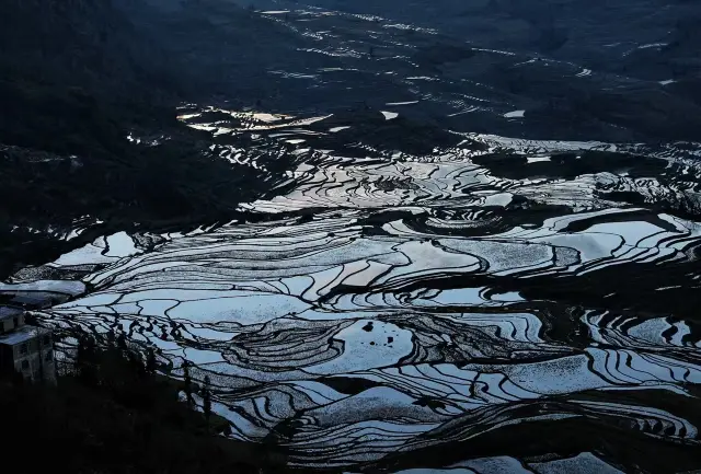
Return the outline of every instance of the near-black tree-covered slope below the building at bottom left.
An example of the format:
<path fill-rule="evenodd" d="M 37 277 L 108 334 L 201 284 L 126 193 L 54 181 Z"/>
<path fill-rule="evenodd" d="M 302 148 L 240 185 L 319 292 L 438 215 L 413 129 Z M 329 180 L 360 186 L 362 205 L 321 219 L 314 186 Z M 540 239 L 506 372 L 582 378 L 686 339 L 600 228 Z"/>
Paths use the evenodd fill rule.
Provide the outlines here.
<path fill-rule="evenodd" d="M 273 473 L 281 454 L 218 436 L 228 424 L 179 401 L 199 391 L 156 372 L 153 352 L 141 357 L 124 342 L 99 347 L 81 339 L 74 365 L 58 383 L 0 382 L 3 452 L 21 472 Z M 21 379 L 20 379 L 21 380 Z M 191 397 L 189 395 L 188 397 Z M 37 455 L 37 451 L 41 455 Z"/>

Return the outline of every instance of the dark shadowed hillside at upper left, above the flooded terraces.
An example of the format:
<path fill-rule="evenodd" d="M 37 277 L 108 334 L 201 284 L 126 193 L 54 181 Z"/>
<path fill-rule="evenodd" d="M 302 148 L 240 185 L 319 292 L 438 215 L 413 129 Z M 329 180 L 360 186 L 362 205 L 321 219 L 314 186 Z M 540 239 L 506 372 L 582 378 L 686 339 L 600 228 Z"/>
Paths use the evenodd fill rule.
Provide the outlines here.
<path fill-rule="evenodd" d="M 49 226 L 92 216 L 120 230 L 182 230 L 230 220 L 257 196 L 269 176 L 209 155 L 208 135 L 175 116 L 184 101 L 233 83 L 237 63 L 219 51 L 237 36 L 212 23 L 209 3 L 2 2 L 0 277 L 65 251 Z M 250 12 L 217 4 L 228 5 L 221 18 L 253 27 Z"/>

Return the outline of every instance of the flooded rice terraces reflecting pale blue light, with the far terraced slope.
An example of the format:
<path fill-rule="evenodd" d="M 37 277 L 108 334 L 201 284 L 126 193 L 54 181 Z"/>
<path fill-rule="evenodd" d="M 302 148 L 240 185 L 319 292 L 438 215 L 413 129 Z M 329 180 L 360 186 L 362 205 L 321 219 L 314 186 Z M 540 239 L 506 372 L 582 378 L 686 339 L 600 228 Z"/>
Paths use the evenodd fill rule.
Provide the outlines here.
<path fill-rule="evenodd" d="M 191 361 L 232 438 L 298 467 L 701 469 L 701 118 L 682 27 L 350 3 L 254 3 L 299 38 L 267 70 L 279 95 L 174 112 L 234 169 L 291 158 L 261 199 L 21 270 L 78 294 L 37 314 L 123 332 L 173 377 Z M 660 3 L 637 2 L 640 22 Z"/>

